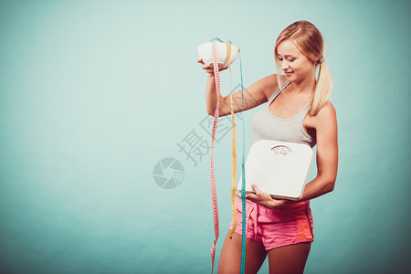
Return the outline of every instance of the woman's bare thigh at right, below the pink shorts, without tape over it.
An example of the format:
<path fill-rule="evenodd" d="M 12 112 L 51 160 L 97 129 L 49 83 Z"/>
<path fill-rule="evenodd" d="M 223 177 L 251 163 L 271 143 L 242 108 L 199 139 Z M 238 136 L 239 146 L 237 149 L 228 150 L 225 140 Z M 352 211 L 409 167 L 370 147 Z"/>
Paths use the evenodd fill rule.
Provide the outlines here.
<path fill-rule="evenodd" d="M 300 243 L 269 250 L 269 273 L 303 273 L 310 248 L 311 243 Z"/>

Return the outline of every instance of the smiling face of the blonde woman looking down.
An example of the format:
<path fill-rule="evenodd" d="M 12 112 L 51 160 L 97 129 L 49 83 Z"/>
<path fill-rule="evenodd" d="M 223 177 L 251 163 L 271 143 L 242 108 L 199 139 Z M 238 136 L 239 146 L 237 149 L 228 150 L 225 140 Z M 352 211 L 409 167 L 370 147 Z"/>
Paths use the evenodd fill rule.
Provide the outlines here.
<path fill-rule="evenodd" d="M 286 39 L 277 47 L 279 67 L 290 82 L 299 82 L 307 77 L 315 78 L 315 63 L 290 41 Z"/>

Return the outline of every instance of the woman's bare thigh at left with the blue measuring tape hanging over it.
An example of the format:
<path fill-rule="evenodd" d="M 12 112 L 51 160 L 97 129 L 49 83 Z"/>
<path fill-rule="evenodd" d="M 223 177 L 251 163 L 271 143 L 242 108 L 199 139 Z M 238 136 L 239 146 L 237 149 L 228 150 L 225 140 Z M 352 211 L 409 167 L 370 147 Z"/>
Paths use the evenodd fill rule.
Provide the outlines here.
<path fill-rule="evenodd" d="M 221 250 L 218 274 L 237 274 L 241 269 L 241 235 L 234 233 L 230 239 L 230 231 Z M 266 257 L 267 251 L 261 242 L 246 238 L 246 273 L 257 273 Z"/>

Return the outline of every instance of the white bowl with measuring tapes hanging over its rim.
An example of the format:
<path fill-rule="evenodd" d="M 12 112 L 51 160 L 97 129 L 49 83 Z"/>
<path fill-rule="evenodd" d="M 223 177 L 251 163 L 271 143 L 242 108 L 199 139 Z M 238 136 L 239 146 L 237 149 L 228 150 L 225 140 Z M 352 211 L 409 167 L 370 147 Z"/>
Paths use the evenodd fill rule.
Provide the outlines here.
<path fill-rule="evenodd" d="M 212 42 L 208 42 L 205 44 L 201 44 L 198 46 L 198 55 L 203 59 L 205 65 L 213 63 L 213 48 Z M 221 42 L 216 43 L 216 53 L 217 53 L 217 60 L 218 64 L 221 64 L 223 67 L 228 66 L 228 55 L 227 55 L 227 44 Z M 231 56 L 230 56 L 230 64 L 232 64 L 238 55 L 239 48 L 237 46 L 231 45 Z"/>

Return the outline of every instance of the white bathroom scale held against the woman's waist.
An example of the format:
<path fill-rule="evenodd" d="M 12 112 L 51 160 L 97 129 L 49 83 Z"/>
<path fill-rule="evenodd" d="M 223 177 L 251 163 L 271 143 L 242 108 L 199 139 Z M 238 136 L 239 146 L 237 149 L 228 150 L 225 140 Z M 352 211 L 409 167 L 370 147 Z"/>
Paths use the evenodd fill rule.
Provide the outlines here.
<path fill-rule="evenodd" d="M 307 144 L 259 140 L 245 163 L 246 193 L 252 184 L 273 198 L 299 200 L 311 169 L 313 150 Z M 237 189 L 241 191 L 242 176 Z"/>

